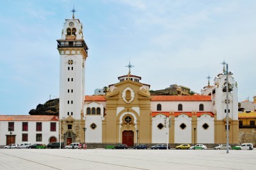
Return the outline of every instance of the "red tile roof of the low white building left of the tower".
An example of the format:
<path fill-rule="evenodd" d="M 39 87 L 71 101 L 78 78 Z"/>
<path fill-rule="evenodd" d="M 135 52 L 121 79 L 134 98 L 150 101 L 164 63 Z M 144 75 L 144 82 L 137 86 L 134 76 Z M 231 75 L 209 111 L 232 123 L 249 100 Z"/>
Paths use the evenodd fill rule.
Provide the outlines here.
<path fill-rule="evenodd" d="M 0 121 L 58 121 L 58 116 L 0 115 Z"/>

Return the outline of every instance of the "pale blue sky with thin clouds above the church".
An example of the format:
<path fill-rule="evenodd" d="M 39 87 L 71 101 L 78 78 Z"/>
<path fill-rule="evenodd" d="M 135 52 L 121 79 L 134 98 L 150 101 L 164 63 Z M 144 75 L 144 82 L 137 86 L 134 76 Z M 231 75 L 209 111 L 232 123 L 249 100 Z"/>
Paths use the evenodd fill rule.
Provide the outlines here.
<path fill-rule="evenodd" d="M 56 40 L 65 19 L 83 23 L 88 45 L 85 95 L 132 75 L 164 89 L 196 93 L 222 73 L 225 60 L 239 102 L 256 96 L 256 1 L 0 0 L 0 114 L 28 114 L 59 97 Z"/>

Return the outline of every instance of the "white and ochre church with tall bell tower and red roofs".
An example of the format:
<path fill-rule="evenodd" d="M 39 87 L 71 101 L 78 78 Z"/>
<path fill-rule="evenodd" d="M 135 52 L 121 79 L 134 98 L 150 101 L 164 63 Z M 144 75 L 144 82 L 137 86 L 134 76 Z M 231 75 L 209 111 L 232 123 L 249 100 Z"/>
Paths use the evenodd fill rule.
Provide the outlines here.
<path fill-rule="evenodd" d="M 150 85 L 131 74 L 130 64 L 127 74 L 109 84 L 106 95 L 85 95 L 84 84 L 90 83 L 84 79 L 88 46 L 84 42 L 83 24 L 74 12 L 72 19 L 65 20 L 61 39 L 57 40 L 59 141 L 128 146 L 225 143 L 228 112 L 229 142 L 239 143 L 237 82 L 232 72 L 225 72 L 225 67 L 214 77 L 213 86 L 208 82 L 200 95 L 150 95 Z"/>

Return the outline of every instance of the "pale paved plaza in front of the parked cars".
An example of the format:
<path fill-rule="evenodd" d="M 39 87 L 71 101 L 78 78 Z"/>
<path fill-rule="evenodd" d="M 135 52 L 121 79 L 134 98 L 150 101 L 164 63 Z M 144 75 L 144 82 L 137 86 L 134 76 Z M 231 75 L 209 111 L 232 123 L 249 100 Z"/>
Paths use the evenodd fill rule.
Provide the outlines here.
<path fill-rule="evenodd" d="M 0 149 L 0 169 L 256 169 L 256 150 Z"/>

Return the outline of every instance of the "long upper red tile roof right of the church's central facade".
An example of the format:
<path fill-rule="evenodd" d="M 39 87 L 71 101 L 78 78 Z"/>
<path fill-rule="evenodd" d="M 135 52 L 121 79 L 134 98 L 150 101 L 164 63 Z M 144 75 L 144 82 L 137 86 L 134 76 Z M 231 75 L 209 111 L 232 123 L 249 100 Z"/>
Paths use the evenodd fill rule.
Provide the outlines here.
<path fill-rule="evenodd" d="M 201 96 L 201 95 L 193 95 L 193 96 L 151 96 L 151 101 L 211 101 L 211 96 Z"/>

